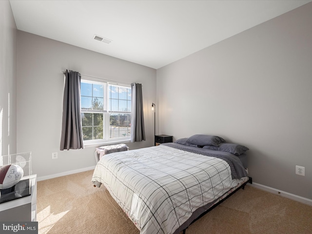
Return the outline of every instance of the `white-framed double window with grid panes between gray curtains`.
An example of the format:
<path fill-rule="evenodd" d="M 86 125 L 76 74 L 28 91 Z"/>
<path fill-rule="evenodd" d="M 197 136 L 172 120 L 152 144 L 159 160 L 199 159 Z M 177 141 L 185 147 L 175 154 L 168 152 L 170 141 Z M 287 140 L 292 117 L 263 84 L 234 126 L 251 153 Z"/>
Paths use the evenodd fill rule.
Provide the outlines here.
<path fill-rule="evenodd" d="M 80 88 L 83 141 L 130 140 L 131 87 L 82 79 Z"/>

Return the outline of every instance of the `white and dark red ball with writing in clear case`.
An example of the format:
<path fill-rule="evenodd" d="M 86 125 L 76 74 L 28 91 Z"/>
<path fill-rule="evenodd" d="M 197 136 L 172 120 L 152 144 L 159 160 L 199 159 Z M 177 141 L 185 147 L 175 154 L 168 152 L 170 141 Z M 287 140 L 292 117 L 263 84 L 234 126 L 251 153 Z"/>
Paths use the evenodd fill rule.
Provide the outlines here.
<path fill-rule="evenodd" d="M 2 166 L 0 168 L 0 189 L 8 189 L 16 185 L 23 175 L 24 171 L 19 165 Z"/>

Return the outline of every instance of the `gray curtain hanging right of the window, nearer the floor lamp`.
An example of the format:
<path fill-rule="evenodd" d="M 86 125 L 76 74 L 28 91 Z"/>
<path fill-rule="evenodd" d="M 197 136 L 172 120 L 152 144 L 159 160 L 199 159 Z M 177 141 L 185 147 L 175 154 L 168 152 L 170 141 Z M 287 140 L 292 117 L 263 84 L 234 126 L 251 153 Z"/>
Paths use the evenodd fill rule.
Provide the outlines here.
<path fill-rule="evenodd" d="M 134 83 L 131 86 L 131 142 L 145 140 L 143 116 L 142 84 Z"/>

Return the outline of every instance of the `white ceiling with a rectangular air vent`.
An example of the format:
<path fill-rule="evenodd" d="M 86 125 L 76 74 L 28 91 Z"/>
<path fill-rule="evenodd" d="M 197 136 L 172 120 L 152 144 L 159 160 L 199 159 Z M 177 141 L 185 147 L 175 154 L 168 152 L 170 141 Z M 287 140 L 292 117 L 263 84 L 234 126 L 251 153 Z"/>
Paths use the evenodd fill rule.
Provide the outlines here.
<path fill-rule="evenodd" d="M 10 0 L 19 30 L 151 68 L 312 0 Z M 93 39 L 112 40 L 107 44 Z"/>

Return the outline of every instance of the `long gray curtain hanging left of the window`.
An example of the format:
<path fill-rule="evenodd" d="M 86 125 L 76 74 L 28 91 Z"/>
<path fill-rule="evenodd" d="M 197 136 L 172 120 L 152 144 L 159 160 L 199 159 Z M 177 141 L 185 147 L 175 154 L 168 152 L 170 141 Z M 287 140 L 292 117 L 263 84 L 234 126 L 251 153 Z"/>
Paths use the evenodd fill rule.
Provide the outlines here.
<path fill-rule="evenodd" d="M 78 72 L 67 71 L 63 97 L 63 119 L 60 150 L 83 149 L 80 117 L 80 82 Z"/>

